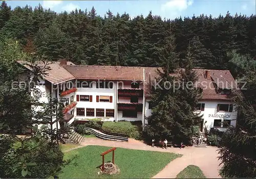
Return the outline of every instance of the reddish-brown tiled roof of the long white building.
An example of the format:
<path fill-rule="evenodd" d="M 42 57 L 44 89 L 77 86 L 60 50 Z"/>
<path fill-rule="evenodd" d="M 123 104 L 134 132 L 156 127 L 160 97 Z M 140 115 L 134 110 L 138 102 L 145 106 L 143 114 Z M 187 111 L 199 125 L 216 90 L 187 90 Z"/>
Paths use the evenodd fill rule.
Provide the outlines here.
<path fill-rule="evenodd" d="M 18 62 L 24 65 L 22 62 Z M 26 66 L 26 65 L 25 65 Z M 143 81 L 144 79 L 144 94 L 151 96 L 152 82 L 158 76 L 158 67 L 126 67 L 126 66 L 95 66 L 95 65 L 74 65 L 67 63 L 67 65 L 59 65 L 59 62 L 54 62 L 48 65 L 48 75 L 45 80 L 58 84 L 73 79 L 83 80 L 115 80 L 115 81 Z M 26 66 L 28 68 L 28 66 Z M 143 74 L 144 69 L 144 74 Z M 219 99 L 230 100 L 232 95 L 220 94 L 216 86 L 220 89 L 236 88 L 236 82 L 228 70 L 207 70 L 195 69 L 198 74 L 197 87 L 203 89 L 202 99 Z M 210 73 L 210 79 L 206 79 L 205 71 Z M 177 75 L 177 74 L 171 74 Z M 237 90 L 240 91 L 240 90 Z"/>

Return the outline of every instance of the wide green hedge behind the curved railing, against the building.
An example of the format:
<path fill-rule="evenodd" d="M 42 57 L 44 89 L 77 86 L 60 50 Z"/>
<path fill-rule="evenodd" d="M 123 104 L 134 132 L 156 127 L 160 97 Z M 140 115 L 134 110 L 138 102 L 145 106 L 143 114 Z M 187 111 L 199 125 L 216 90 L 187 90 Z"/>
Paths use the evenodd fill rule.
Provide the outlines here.
<path fill-rule="evenodd" d="M 110 133 L 128 135 L 136 140 L 142 139 L 141 121 L 103 122 L 102 129 Z"/>

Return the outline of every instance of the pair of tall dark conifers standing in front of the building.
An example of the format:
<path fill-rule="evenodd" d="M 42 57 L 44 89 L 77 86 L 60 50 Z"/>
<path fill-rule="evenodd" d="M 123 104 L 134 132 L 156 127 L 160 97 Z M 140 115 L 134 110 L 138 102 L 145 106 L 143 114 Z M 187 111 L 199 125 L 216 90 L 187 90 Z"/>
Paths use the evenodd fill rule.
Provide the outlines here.
<path fill-rule="evenodd" d="M 168 46 L 174 46 L 169 44 Z M 185 69 L 181 70 L 178 77 L 169 75 L 175 71 L 175 64 L 172 58 L 175 58 L 173 48 L 168 48 L 173 54 L 165 58 L 165 68 L 163 72 L 159 71 L 159 78 L 155 94 L 152 97 L 152 115 L 147 118 L 148 124 L 145 127 L 144 139 L 150 142 L 153 138 L 156 140 L 171 140 L 174 143 L 189 144 L 190 138 L 194 135 L 193 126 L 199 125 L 202 116 L 194 113 L 198 99 L 201 97 L 200 89 L 192 86 L 179 86 L 178 83 L 187 84 L 197 81 L 196 72 L 193 70 L 193 54 L 190 52 L 190 46 L 187 50 Z M 166 86 L 169 84 L 170 86 Z"/>

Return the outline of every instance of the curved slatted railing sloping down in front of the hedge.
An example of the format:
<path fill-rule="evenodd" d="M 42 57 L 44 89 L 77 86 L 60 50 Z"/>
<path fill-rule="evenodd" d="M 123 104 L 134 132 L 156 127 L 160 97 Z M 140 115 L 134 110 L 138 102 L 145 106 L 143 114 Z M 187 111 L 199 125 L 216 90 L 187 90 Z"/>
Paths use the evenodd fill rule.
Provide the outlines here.
<path fill-rule="evenodd" d="M 90 127 L 84 127 L 85 130 L 87 131 L 90 131 L 91 133 L 93 133 L 96 137 L 98 138 L 101 138 L 101 139 L 106 139 L 106 140 L 118 140 L 118 141 L 128 141 L 128 137 L 123 137 L 123 136 L 127 136 L 127 135 L 121 135 L 120 134 L 115 134 L 115 133 L 108 133 L 108 134 L 105 134 L 105 133 L 102 133 L 101 131 L 99 130 L 96 130 L 96 129 L 93 129 L 93 128 L 90 128 Z M 111 134 L 115 134 L 116 136 L 114 135 L 111 135 Z M 119 136 L 117 136 L 119 135 Z"/>

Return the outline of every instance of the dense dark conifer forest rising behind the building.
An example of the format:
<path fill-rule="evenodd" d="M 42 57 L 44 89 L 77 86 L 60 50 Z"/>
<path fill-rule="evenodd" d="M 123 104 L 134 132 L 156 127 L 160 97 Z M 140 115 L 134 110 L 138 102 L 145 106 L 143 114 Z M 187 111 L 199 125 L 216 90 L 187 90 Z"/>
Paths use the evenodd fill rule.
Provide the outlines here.
<path fill-rule="evenodd" d="M 96 9 L 56 13 L 40 4 L 0 7 L 0 35 L 16 38 L 28 53 L 49 60 L 67 59 L 75 64 L 161 66 L 169 36 L 175 36 L 178 65 L 184 67 L 188 45 L 195 54 L 195 66 L 229 69 L 230 52 L 253 59 L 256 56 L 256 17 L 229 12 L 219 17 L 180 17 L 174 20 L 129 13 L 104 17 Z"/>

